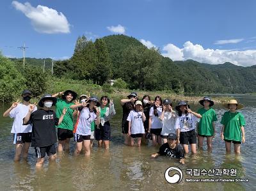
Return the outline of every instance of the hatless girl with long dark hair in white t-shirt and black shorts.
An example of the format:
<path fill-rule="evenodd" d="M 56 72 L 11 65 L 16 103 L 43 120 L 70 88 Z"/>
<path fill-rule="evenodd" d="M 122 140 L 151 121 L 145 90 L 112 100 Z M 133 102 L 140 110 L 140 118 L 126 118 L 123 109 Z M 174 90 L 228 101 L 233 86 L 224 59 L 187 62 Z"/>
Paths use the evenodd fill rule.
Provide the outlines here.
<path fill-rule="evenodd" d="M 161 123 L 159 116 L 162 114 L 162 99 L 160 96 L 156 96 L 153 107 L 149 111 L 148 119 L 148 133 L 151 134 L 152 144 L 161 146 L 161 131 L 163 124 Z"/>

